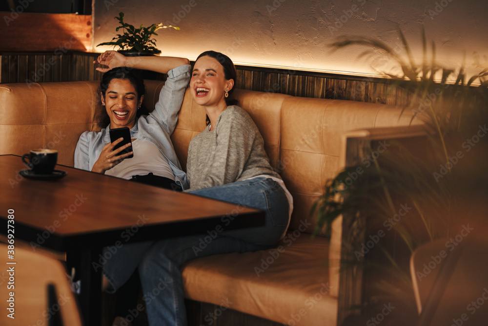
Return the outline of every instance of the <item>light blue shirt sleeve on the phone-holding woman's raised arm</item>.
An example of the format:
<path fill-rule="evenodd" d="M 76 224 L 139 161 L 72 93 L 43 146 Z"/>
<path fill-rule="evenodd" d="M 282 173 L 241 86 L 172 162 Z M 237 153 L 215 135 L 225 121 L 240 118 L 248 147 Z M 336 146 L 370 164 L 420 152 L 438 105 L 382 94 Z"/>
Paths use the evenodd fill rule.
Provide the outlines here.
<path fill-rule="evenodd" d="M 178 112 L 190 81 L 190 68 L 190 65 L 180 65 L 168 71 L 168 78 L 161 89 L 159 100 L 154 111 L 149 114 L 160 121 L 169 134 L 173 133 L 178 121 Z"/>

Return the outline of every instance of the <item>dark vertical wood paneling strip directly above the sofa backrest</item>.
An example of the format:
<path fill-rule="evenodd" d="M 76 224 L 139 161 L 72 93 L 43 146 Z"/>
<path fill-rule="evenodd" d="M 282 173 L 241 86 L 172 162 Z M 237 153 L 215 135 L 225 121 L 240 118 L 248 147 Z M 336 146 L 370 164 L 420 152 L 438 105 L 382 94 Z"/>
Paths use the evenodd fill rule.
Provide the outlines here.
<path fill-rule="evenodd" d="M 98 53 L 0 54 L 0 83 L 100 80 L 93 60 Z M 293 96 L 401 105 L 407 99 L 388 91 L 389 80 L 285 69 L 236 66 L 236 87 Z M 156 75 L 164 80 L 162 74 Z"/>

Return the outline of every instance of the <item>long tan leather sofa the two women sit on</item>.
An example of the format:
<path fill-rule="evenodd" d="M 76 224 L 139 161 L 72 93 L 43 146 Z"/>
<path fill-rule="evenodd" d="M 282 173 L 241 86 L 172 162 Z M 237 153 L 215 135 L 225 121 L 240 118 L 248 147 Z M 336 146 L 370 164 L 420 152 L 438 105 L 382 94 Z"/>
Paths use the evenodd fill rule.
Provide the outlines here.
<path fill-rule="evenodd" d="M 96 115 L 102 109 L 98 84 L 0 85 L 0 154 L 54 148 L 60 164 L 73 166 L 80 134 L 97 129 Z M 154 107 L 162 86 L 146 81 L 148 108 Z M 183 268 L 185 296 L 288 325 L 336 325 L 338 296 L 348 300 L 341 298 L 346 294 L 339 288 L 342 219 L 334 222 L 330 241 L 322 236 L 312 239 L 315 221 L 310 207 L 323 194 L 325 181 L 346 164 L 347 132 L 407 126 L 410 116 L 382 104 L 241 89 L 234 96 L 256 122 L 271 165 L 293 196 L 289 232 L 272 250 L 190 261 Z M 203 109 L 187 92 L 172 135 L 183 168 L 188 144 L 203 130 L 204 121 Z"/>

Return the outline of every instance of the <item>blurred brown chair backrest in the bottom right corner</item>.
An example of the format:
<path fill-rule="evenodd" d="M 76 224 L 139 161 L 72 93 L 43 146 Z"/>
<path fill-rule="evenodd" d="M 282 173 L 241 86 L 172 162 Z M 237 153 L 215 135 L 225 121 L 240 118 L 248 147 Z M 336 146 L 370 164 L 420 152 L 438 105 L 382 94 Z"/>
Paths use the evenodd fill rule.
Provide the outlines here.
<path fill-rule="evenodd" d="M 463 225 L 450 239 L 418 247 L 410 259 L 410 275 L 418 326 L 486 325 L 488 320 L 488 241 Z"/>

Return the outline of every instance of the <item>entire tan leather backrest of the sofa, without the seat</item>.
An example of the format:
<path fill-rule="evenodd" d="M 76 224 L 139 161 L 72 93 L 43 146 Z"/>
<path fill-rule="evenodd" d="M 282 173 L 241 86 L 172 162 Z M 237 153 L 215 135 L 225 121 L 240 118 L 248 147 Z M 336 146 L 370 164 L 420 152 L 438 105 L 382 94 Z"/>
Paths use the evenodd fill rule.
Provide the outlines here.
<path fill-rule="evenodd" d="M 144 105 L 154 109 L 164 82 L 146 80 Z M 102 110 L 99 82 L 0 85 L 0 154 L 22 155 L 33 148 L 59 151 L 59 163 L 73 166 L 80 134 L 98 130 Z M 293 97 L 236 89 L 234 97 L 261 131 L 273 168 L 294 199 L 291 229 L 298 229 L 325 181 L 344 168 L 346 131 L 406 126 L 411 116 L 398 107 L 353 101 Z M 414 124 L 421 123 L 414 120 Z M 186 90 L 171 139 L 186 168 L 188 145 L 205 128 L 205 112 Z M 311 233 L 315 223 L 307 227 Z M 303 229 L 303 227 L 302 227 Z"/>

